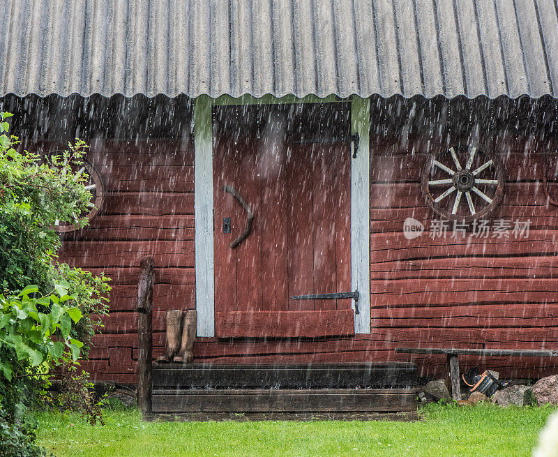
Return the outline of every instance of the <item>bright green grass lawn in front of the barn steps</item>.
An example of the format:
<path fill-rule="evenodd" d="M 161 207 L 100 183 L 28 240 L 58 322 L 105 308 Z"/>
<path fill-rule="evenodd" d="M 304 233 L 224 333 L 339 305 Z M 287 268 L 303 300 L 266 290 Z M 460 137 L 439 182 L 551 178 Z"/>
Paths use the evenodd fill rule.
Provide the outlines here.
<path fill-rule="evenodd" d="M 428 405 L 421 421 L 142 422 L 106 410 L 105 426 L 37 413 L 38 442 L 74 456 L 530 456 L 550 407 Z"/>

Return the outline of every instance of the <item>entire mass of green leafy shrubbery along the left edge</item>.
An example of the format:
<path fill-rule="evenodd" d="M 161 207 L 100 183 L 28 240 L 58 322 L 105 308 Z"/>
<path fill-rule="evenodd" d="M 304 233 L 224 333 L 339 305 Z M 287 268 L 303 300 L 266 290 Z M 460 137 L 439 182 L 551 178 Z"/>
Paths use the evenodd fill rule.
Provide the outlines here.
<path fill-rule="evenodd" d="M 73 376 L 82 386 L 74 391 L 85 395 L 86 374 L 68 367 L 89 354 L 110 286 L 104 275 L 56 262 L 56 221 L 87 223 L 81 215 L 89 212 L 88 177 L 74 172 L 84 164 L 86 144 L 76 140 L 52 156 L 16 151 L 10 116 L 0 113 L 0 413 L 15 430 L 53 368 Z M 96 416 L 89 400 L 70 398 Z"/>

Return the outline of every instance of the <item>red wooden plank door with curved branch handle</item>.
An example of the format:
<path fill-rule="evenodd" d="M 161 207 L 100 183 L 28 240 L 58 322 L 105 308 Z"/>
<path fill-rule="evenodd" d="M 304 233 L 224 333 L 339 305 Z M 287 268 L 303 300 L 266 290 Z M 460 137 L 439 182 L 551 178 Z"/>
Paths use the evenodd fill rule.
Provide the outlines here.
<path fill-rule="evenodd" d="M 349 144 L 250 129 L 214 136 L 216 335 L 354 334 L 351 299 L 291 298 L 351 290 Z M 254 213 L 234 248 L 248 213 L 225 186 Z"/>

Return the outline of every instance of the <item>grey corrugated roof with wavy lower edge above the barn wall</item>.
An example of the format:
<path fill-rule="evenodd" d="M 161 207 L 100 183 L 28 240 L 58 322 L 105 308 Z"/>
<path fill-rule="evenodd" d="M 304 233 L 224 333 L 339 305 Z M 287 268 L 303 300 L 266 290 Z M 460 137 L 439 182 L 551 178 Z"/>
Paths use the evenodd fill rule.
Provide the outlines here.
<path fill-rule="evenodd" d="M 2 0 L 0 95 L 558 96 L 556 0 Z"/>

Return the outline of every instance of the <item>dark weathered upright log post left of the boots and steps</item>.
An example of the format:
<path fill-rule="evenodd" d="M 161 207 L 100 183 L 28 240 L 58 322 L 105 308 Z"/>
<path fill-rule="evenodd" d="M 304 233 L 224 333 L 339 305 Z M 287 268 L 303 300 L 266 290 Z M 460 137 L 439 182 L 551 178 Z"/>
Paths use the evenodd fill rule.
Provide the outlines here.
<path fill-rule="evenodd" d="M 137 375 L 137 406 L 142 414 L 151 412 L 153 363 L 153 257 L 144 257 L 140 263 L 140 280 L 137 283 L 137 339 L 140 348 Z"/>

